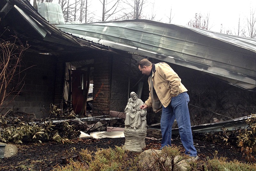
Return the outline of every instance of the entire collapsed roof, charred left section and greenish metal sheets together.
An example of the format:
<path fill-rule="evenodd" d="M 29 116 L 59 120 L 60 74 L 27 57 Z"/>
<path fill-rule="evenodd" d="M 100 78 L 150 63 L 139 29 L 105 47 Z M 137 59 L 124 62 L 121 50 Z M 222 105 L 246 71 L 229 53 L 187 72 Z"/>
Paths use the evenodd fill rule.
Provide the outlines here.
<path fill-rule="evenodd" d="M 122 50 L 256 90 L 253 38 L 144 19 L 53 26 L 28 0 L 2 0 L 0 10 L 1 26 L 12 28 L 23 42 L 33 45 L 29 50 L 38 53 L 63 55 L 75 51 Z"/>

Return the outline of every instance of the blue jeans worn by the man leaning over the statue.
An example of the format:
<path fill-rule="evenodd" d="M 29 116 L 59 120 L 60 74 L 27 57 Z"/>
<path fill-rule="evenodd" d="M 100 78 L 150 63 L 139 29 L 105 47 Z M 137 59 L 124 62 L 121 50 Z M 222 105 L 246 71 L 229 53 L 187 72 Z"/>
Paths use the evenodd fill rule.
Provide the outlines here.
<path fill-rule="evenodd" d="M 180 132 L 180 139 L 185 148 L 185 154 L 189 156 L 196 156 L 197 152 L 193 144 L 188 102 L 188 93 L 183 92 L 178 96 L 172 97 L 171 103 L 167 107 L 163 106 L 160 121 L 162 132 L 161 148 L 168 145 L 171 146 L 172 124 L 176 117 Z"/>

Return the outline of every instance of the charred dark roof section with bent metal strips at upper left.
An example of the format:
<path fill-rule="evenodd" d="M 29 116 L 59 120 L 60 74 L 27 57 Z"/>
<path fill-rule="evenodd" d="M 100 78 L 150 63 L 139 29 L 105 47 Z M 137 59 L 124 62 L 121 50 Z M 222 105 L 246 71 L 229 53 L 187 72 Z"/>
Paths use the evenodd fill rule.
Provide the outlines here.
<path fill-rule="evenodd" d="M 9 31 L 10 30 L 10 31 Z M 110 47 L 66 34 L 45 20 L 28 0 L 0 1 L 0 35 L 2 39 L 17 35 L 28 51 L 65 55 L 72 52 L 112 51 Z"/>

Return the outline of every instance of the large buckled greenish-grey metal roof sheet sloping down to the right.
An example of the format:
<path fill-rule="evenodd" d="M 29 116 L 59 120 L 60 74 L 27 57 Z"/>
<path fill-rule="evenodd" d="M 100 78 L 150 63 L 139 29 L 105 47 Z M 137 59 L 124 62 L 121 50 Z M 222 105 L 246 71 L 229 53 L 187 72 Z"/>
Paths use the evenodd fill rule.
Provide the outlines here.
<path fill-rule="evenodd" d="M 57 25 L 74 36 L 256 87 L 256 40 L 145 19 Z"/>

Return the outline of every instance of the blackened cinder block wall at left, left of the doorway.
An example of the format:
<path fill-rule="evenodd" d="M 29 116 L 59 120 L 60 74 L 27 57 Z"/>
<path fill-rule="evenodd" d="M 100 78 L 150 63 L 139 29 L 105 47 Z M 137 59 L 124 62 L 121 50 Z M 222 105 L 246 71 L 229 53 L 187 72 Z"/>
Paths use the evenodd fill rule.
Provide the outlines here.
<path fill-rule="evenodd" d="M 26 53 L 22 58 L 20 78 L 24 86 L 12 103 L 2 111 L 35 113 L 37 118 L 48 116 L 49 106 L 54 100 L 56 59 L 54 56 Z M 41 113 L 41 109 L 43 113 Z"/>

